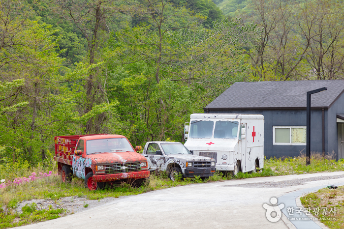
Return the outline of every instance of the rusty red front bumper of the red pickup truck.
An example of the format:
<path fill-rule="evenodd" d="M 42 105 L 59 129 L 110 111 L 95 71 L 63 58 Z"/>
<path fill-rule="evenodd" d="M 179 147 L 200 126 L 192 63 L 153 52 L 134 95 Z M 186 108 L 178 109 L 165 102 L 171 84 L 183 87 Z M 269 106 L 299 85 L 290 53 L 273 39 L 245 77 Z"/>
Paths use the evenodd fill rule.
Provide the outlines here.
<path fill-rule="evenodd" d="M 150 175 L 149 170 L 145 170 L 145 171 L 139 171 L 139 172 L 93 175 L 93 179 L 96 182 L 111 182 L 111 181 L 122 180 L 122 179 L 148 178 L 149 175 Z"/>

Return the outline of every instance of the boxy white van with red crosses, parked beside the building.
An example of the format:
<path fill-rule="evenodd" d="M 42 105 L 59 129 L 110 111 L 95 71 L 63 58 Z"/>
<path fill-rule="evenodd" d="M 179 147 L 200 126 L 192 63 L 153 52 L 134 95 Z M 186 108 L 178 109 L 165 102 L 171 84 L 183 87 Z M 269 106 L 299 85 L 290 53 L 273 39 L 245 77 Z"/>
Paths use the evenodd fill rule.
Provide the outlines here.
<path fill-rule="evenodd" d="M 256 171 L 264 166 L 264 116 L 191 114 L 184 144 L 193 154 L 214 158 L 216 170 Z"/>

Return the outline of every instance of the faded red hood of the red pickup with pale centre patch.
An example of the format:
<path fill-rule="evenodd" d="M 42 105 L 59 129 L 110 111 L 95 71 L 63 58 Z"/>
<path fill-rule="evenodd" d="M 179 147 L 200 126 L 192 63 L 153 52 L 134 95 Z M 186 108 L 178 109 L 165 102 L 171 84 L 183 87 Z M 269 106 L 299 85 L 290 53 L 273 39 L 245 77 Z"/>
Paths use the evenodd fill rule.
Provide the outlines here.
<path fill-rule="evenodd" d="M 89 154 L 88 158 L 93 159 L 95 164 L 116 164 L 146 161 L 146 158 L 135 152 L 112 152 L 112 153 L 98 153 Z"/>

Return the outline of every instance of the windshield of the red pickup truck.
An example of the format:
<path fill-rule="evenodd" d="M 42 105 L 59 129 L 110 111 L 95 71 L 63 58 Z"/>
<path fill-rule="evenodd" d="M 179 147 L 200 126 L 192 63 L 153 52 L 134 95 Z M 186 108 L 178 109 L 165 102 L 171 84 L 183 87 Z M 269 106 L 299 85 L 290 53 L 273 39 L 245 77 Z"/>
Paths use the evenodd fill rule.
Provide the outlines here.
<path fill-rule="evenodd" d="M 125 138 L 89 140 L 86 142 L 86 150 L 87 154 L 134 152 Z"/>

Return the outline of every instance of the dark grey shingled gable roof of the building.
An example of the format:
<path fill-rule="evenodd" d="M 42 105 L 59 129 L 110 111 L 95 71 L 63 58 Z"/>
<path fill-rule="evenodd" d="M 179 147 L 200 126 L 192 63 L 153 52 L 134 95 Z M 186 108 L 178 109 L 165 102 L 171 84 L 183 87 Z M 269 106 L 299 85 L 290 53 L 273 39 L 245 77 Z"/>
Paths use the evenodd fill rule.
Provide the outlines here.
<path fill-rule="evenodd" d="M 344 92 L 344 80 L 238 82 L 204 110 L 306 109 L 307 91 L 327 87 L 311 95 L 312 108 L 328 109 Z"/>

